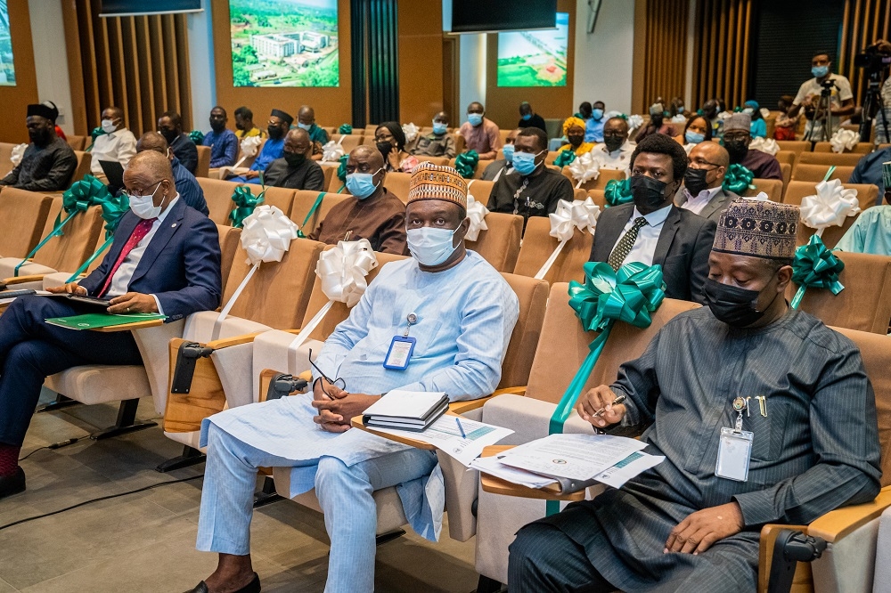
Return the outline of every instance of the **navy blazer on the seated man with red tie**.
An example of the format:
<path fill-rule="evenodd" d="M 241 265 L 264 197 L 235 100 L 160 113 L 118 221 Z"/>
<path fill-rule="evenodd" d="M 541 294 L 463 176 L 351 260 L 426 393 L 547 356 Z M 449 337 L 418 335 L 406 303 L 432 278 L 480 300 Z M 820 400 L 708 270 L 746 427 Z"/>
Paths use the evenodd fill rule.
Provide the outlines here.
<path fill-rule="evenodd" d="M 145 248 L 128 289 L 157 296 L 168 321 L 176 321 L 216 309 L 223 296 L 223 280 L 217 224 L 188 207 L 184 199 L 177 199 L 170 208 Z M 102 264 L 80 280 L 91 296 L 97 296 L 139 221 L 139 216 L 127 212 Z"/>

